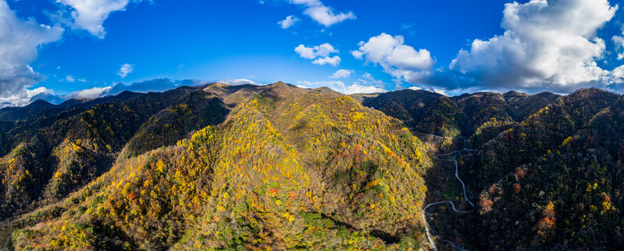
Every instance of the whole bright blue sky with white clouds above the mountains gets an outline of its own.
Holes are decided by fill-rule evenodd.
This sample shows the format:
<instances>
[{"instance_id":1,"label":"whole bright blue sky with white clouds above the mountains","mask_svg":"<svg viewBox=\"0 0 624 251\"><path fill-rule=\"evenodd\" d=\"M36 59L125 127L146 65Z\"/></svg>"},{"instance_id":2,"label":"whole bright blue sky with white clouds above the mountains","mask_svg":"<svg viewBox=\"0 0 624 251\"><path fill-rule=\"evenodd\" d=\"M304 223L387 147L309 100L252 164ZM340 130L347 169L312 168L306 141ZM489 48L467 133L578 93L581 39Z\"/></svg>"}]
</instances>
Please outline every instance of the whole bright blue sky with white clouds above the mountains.
<instances>
[{"instance_id":1,"label":"whole bright blue sky with white clouds above the mountains","mask_svg":"<svg viewBox=\"0 0 624 251\"><path fill-rule=\"evenodd\" d=\"M624 92L616 0L0 0L0 107L210 82Z\"/></svg>"}]
</instances>

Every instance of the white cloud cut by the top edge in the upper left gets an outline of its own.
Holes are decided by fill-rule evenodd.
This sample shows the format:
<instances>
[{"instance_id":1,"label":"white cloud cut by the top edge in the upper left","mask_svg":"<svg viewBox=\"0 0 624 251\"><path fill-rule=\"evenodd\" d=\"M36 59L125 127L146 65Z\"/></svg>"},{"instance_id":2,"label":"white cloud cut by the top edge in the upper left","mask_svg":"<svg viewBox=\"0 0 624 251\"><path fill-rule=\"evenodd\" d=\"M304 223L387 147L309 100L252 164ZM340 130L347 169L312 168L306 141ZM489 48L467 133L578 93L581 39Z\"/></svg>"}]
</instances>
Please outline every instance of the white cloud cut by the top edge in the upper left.
<instances>
[{"instance_id":1,"label":"white cloud cut by the top edge in the upper left","mask_svg":"<svg viewBox=\"0 0 624 251\"><path fill-rule=\"evenodd\" d=\"M108 15L114 11L126 10L129 2L129 0L57 0L57 3L71 6L73 9L71 25L74 29L85 29L98 38L106 36L102 25Z\"/></svg>"}]
</instances>

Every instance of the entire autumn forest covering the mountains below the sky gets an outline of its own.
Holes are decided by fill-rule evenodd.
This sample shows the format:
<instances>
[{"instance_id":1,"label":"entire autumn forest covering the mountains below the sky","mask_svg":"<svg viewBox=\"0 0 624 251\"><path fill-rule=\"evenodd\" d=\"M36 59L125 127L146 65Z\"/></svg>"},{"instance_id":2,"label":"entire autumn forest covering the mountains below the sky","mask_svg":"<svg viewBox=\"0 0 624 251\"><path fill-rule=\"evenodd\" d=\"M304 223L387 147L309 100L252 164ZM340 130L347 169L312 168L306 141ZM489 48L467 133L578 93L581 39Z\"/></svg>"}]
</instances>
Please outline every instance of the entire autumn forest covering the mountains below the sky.
<instances>
[{"instance_id":1,"label":"entire autumn forest covering the mountains below the sky","mask_svg":"<svg viewBox=\"0 0 624 251\"><path fill-rule=\"evenodd\" d=\"M6 250L618 250L624 98L208 84L0 109ZM476 207L458 214L435 201ZM427 221L427 222L426 222Z\"/></svg>"}]
</instances>

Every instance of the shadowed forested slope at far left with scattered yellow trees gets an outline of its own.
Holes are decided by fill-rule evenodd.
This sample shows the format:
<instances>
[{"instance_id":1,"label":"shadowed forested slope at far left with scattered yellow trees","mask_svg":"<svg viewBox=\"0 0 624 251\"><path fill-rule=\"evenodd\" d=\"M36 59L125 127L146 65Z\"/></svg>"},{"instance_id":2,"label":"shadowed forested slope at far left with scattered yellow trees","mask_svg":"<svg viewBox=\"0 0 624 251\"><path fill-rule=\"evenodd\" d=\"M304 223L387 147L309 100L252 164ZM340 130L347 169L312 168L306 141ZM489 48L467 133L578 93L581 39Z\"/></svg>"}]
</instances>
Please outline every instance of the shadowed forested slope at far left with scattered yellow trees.
<instances>
[{"instance_id":1,"label":"shadowed forested slope at far left with scattered yellow trees","mask_svg":"<svg viewBox=\"0 0 624 251\"><path fill-rule=\"evenodd\" d=\"M17 122L1 137L0 218L65 197L97 178L143 122L188 93L146 93Z\"/></svg>"}]
</instances>

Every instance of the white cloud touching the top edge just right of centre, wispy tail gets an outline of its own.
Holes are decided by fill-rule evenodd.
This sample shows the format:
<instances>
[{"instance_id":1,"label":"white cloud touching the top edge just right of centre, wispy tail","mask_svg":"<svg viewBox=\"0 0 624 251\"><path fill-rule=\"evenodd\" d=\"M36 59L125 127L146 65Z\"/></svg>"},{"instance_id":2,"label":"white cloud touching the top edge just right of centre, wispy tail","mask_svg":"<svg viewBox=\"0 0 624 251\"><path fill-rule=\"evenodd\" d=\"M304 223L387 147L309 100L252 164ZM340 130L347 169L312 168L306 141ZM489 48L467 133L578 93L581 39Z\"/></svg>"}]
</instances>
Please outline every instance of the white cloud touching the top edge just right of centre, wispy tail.
<instances>
[{"instance_id":1,"label":"white cloud touching the top edge just right of centre, wispy tail","mask_svg":"<svg viewBox=\"0 0 624 251\"><path fill-rule=\"evenodd\" d=\"M354 20L356 15L349 13L335 14L331 7L325 6L319 0L290 0L290 3L305 6L303 14L312 18L312 20L323 24L326 27L332 26L344 20Z\"/></svg>"}]
</instances>

